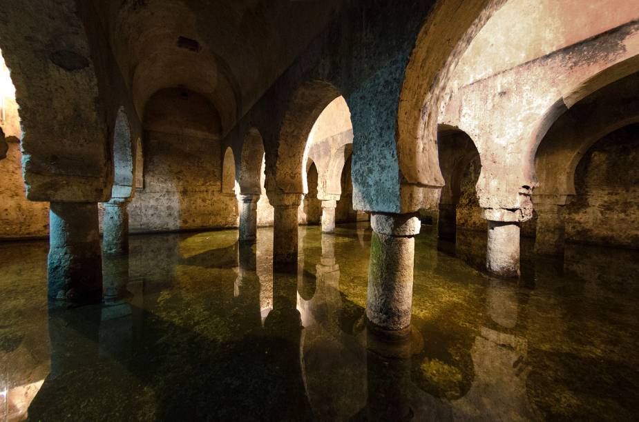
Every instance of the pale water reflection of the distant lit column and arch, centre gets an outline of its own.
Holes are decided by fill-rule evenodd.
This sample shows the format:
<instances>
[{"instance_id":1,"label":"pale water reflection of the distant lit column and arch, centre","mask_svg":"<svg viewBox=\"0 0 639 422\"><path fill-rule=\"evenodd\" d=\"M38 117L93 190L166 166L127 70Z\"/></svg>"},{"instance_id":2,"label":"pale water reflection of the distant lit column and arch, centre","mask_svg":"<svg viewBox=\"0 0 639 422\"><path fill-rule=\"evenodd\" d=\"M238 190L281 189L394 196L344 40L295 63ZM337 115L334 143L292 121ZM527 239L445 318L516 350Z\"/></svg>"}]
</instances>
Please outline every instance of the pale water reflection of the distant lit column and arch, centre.
<instances>
[{"instance_id":1,"label":"pale water reflection of the distant lit column and arch, centre","mask_svg":"<svg viewBox=\"0 0 639 422\"><path fill-rule=\"evenodd\" d=\"M303 376L316 421L349 420L366 402L365 335L354 333L351 318L355 314L363 320L364 310L345 312L347 305L349 310L357 305L340 294L336 239L334 234L321 234L319 263L306 263L301 285L301 290L309 284L314 287L310 297L301 293L299 309L304 323ZM309 271L313 267L316 274Z\"/></svg>"}]
</instances>

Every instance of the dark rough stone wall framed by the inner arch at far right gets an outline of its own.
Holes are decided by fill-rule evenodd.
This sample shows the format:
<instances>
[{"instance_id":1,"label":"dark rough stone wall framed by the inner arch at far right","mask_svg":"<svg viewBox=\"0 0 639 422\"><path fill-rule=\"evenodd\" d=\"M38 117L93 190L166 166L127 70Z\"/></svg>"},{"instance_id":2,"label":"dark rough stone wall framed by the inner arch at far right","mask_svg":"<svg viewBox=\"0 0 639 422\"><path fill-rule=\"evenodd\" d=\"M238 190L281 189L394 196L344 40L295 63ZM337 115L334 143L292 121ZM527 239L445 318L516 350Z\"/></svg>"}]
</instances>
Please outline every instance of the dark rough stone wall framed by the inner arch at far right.
<instances>
[{"instance_id":1,"label":"dark rough stone wall framed by the inner arch at far right","mask_svg":"<svg viewBox=\"0 0 639 422\"><path fill-rule=\"evenodd\" d=\"M639 125L593 145L575 173L566 240L639 248Z\"/></svg>"}]
</instances>

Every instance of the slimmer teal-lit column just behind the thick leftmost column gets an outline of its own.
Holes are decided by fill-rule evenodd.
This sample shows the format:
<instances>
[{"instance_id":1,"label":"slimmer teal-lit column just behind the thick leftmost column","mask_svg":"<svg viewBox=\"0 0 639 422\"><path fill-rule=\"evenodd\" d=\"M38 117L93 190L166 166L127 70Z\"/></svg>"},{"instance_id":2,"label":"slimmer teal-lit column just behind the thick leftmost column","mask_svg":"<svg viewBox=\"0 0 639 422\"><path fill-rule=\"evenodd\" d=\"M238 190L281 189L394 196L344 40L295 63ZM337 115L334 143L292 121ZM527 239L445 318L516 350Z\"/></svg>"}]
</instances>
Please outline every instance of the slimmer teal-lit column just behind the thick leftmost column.
<instances>
[{"instance_id":1,"label":"slimmer teal-lit column just behind the thick leftmost column","mask_svg":"<svg viewBox=\"0 0 639 422\"><path fill-rule=\"evenodd\" d=\"M104 203L102 249L106 254L128 252L128 211L130 198L111 198Z\"/></svg>"}]
</instances>

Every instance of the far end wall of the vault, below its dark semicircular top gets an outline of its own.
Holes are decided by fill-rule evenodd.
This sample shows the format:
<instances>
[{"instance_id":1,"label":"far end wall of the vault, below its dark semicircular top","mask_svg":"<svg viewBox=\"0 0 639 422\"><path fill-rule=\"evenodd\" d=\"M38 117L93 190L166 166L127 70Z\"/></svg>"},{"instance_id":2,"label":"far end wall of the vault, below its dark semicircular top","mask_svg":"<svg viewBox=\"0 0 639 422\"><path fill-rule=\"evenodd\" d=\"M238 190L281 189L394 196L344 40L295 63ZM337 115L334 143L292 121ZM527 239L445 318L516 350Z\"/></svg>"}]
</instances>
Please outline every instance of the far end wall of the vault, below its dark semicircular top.
<instances>
[{"instance_id":1,"label":"far end wall of the vault, below its dark semicircular top","mask_svg":"<svg viewBox=\"0 0 639 422\"><path fill-rule=\"evenodd\" d=\"M149 132L144 189L128 205L131 232L237 225L238 202L221 192L219 139Z\"/></svg>"}]
</instances>

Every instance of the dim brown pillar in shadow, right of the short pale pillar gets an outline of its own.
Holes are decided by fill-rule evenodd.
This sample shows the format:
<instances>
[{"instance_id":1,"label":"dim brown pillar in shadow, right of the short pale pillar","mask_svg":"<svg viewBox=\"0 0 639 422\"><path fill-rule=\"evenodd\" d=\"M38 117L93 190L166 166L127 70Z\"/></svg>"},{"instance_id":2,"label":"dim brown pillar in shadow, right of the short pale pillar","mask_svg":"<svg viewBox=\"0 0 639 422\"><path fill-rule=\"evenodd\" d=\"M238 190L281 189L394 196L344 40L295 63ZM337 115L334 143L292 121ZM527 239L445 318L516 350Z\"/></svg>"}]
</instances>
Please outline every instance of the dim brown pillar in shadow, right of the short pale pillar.
<instances>
[{"instance_id":1,"label":"dim brown pillar in shadow, right of the short pale pillar","mask_svg":"<svg viewBox=\"0 0 639 422\"><path fill-rule=\"evenodd\" d=\"M537 232L535 253L542 255L562 255L566 226L562 215L562 205L535 204L537 211Z\"/></svg>"}]
</instances>

